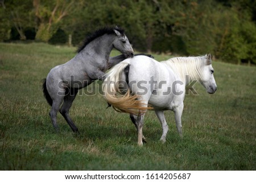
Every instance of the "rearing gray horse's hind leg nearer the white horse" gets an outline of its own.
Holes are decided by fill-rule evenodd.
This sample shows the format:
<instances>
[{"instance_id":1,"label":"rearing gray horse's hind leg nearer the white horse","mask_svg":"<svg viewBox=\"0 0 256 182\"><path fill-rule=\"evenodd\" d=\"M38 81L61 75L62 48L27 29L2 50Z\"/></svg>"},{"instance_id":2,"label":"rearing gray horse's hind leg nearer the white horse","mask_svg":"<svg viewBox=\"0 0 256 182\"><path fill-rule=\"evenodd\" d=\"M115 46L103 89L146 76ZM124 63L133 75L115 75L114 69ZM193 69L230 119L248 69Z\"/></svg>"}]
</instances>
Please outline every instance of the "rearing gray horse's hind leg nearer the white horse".
<instances>
[{"instance_id":1,"label":"rearing gray horse's hind leg nearer the white horse","mask_svg":"<svg viewBox=\"0 0 256 182\"><path fill-rule=\"evenodd\" d=\"M72 103L76 98L78 89L70 88L70 90L71 90L71 92L66 94L66 96L64 97L64 102L63 102L63 105L61 106L60 114L63 115L63 117L67 121L68 125L71 127L71 129L74 132L79 132L76 125L73 123L71 117L69 116L69 109L72 106Z\"/></svg>"}]
</instances>

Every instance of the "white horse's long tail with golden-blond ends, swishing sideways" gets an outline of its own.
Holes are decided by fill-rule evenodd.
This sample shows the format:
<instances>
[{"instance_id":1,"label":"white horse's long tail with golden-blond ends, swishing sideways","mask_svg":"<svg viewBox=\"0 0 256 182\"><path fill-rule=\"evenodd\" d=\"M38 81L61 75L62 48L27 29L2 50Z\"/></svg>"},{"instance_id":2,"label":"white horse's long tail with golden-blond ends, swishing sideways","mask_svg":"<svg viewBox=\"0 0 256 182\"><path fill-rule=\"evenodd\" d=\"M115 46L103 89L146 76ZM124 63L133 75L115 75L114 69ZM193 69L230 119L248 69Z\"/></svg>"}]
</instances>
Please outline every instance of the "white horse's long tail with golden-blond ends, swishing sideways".
<instances>
[{"instance_id":1,"label":"white horse's long tail with golden-blond ends, swishing sideways","mask_svg":"<svg viewBox=\"0 0 256 182\"><path fill-rule=\"evenodd\" d=\"M106 79L102 86L104 98L118 112L143 113L149 108L143 104L137 94L131 94L128 84L129 66L129 63L121 62L105 75Z\"/></svg>"}]
</instances>

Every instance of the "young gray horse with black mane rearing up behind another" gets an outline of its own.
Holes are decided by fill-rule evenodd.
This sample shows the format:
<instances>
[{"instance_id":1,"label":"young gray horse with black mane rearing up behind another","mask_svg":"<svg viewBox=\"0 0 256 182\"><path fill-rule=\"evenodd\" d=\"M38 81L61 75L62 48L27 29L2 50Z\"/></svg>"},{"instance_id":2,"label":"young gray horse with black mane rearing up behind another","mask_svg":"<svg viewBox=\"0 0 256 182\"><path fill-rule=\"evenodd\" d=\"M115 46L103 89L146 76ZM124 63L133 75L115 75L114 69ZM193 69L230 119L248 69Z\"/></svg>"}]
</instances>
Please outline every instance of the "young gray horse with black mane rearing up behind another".
<instances>
[{"instance_id":1,"label":"young gray horse with black mane rearing up behind another","mask_svg":"<svg viewBox=\"0 0 256 182\"><path fill-rule=\"evenodd\" d=\"M123 55L109 58L113 48ZM101 28L85 40L75 57L52 68L43 82L43 92L51 111L53 127L58 130L57 113L68 122L74 132L78 129L69 116L69 109L79 89L94 80L104 80L105 71L127 57L133 57L133 48L121 28ZM63 105L60 108L60 105Z\"/></svg>"}]
</instances>

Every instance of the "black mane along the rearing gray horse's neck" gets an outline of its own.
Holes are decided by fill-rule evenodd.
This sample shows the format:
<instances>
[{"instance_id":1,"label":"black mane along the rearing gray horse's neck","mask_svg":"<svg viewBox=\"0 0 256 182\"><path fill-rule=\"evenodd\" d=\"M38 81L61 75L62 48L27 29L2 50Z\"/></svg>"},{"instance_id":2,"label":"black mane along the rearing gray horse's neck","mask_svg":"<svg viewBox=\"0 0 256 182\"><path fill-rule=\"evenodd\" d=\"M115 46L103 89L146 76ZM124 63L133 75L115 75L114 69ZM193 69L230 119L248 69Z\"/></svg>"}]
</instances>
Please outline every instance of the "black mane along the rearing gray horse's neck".
<instances>
[{"instance_id":1,"label":"black mane along the rearing gray horse's neck","mask_svg":"<svg viewBox=\"0 0 256 182\"><path fill-rule=\"evenodd\" d=\"M92 42L94 39L104 35L104 34L114 34L114 30L117 30L120 32L121 35L123 35L125 33L125 31L120 28L120 27L104 27L104 28L100 28L97 31L95 31L94 33L90 34L85 40L84 43L82 44L82 46L80 46L77 49L77 53L79 53L80 51L82 51L82 49L84 49L90 42Z\"/></svg>"}]
</instances>

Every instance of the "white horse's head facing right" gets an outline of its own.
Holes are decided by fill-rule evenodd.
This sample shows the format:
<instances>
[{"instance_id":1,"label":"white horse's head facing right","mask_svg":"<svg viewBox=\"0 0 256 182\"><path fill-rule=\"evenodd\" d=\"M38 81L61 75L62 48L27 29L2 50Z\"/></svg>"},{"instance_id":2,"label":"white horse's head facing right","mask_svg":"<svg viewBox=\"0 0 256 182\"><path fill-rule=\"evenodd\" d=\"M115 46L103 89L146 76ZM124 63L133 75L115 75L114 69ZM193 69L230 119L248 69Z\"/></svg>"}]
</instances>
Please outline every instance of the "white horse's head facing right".
<instances>
[{"instance_id":1,"label":"white horse's head facing right","mask_svg":"<svg viewBox=\"0 0 256 182\"><path fill-rule=\"evenodd\" d=\"M212 67L212 55L205 55L203 73L200 82L207 89L207 92L213 94L217 90L217 85L213 77L214 69Z\"/></svg>"}]
</instances>

